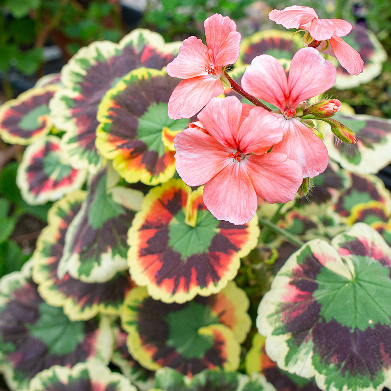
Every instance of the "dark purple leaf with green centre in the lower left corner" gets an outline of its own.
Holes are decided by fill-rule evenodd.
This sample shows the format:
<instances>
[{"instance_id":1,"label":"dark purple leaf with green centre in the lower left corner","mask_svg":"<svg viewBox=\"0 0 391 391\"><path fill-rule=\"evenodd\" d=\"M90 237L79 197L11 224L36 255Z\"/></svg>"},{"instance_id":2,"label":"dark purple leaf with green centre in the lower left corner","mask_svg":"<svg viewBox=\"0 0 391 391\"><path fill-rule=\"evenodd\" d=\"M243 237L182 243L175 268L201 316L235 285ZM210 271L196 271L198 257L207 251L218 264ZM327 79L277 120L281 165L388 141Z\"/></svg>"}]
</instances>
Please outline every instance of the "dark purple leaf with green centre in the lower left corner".
<instances>
[{"instance_id":1,"label":"dark purple leaf with green centre in the lower left corner","mask_svg":"<svg viewBox=\"0 0 391 391\"><path fill-rule=\"evenodd\" d=\"M43 301L31 279L32 262L0 280L0 370L12 390L54 364L72 366L111 355L109 320L71 322Z\"/></svg>"}]
</instances>

